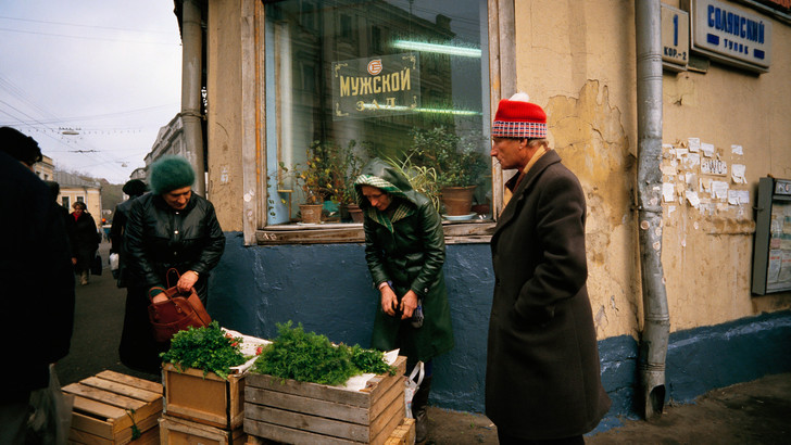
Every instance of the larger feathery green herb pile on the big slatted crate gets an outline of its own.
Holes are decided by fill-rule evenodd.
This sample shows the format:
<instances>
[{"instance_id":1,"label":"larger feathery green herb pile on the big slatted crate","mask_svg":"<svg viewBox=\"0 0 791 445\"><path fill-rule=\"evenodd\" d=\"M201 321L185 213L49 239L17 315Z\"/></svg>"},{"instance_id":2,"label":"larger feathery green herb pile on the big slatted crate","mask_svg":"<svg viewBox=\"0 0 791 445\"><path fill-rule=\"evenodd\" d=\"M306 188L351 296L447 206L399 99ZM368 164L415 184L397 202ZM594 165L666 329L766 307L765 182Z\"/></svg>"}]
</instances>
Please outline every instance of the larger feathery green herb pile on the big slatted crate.
<instances>
[{"instance_id":1,"label":"larger feathery green herb pile on the big slatted crate","mask_svg":"<svg viewBox=\"0 0 791 445\"><path fill-rule=\"evenodd\" d=\"M328 385L346 383L364 372L395 373L381 352L359 345L336 346L325 335L305 332L301 323L291 326L291 321L277 325L278 338L264 347L255 360L254 372Z\"/></svg>"}]
</instances>

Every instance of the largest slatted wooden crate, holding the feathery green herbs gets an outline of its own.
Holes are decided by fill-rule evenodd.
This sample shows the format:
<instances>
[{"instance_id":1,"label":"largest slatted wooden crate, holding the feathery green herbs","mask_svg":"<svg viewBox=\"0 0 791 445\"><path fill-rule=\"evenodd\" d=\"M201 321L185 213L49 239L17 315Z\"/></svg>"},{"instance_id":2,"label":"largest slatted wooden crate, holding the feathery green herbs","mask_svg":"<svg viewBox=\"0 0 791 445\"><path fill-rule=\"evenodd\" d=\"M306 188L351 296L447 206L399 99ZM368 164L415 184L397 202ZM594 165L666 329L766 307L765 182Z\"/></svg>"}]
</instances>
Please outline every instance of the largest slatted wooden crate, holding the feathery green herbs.
<instances>
[{"instance_id":1,"label":"largest slatted wooden crate, holding the feathery green herbs","mask_svg":"<svg viewBox=\"0 0 791 445\"><path fill-rule=\"evenodd\" d=\"M362 391L248 373L244 432L289 444L384 444L404 419L404 368Z\"/></svg>"}]
</instances>

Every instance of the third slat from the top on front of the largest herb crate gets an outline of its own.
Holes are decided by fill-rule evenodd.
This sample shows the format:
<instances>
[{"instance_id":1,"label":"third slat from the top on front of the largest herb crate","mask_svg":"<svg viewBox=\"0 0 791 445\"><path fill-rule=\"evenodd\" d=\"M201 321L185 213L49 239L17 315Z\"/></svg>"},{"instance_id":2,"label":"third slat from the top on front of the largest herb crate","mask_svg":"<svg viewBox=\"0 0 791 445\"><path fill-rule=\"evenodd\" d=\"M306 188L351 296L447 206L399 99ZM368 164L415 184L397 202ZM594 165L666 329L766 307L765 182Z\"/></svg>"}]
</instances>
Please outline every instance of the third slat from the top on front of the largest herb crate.
<instances>
[{"instance_id":1,"label":"third slat from the top on front of the largest herb crate","mask_svg":"<svg viewBox=\"0 0 791 445\"><path fill-rule=\"evenodd\" d=\"M353 442L368 442L369 428L356 423L310 416L285 409L269 408L262 405L249 405L244 411L244 419L258 420L300 431L322 434L324 436L339 437Z\"/></svg>"}]
</instances>

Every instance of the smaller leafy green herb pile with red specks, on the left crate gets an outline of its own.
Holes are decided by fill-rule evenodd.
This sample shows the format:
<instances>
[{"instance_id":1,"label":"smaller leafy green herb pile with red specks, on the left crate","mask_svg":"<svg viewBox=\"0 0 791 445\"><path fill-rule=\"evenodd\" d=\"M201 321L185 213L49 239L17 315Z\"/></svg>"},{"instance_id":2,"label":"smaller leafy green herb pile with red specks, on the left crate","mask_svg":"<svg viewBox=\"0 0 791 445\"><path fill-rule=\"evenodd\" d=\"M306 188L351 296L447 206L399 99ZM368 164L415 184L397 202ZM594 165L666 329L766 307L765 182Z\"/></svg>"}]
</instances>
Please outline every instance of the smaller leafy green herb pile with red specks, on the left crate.
<instances>
[{"instance_id":1,"label":"smaller leafy green herb pile with red specks, on the left crate","mask_svg":"<svg viewBox=\"0 0 791 445\"><path fill-rule=\"evenodd\" d=\"M160 356L179 371L196 368L202 369L204 376L214 372L228 379L230 367L246 361L241 353L241 338L226 334L216 321L212 321L206 327L189 327L177 332L171 340L171 349Z\"/></svg>"}]
</instances>

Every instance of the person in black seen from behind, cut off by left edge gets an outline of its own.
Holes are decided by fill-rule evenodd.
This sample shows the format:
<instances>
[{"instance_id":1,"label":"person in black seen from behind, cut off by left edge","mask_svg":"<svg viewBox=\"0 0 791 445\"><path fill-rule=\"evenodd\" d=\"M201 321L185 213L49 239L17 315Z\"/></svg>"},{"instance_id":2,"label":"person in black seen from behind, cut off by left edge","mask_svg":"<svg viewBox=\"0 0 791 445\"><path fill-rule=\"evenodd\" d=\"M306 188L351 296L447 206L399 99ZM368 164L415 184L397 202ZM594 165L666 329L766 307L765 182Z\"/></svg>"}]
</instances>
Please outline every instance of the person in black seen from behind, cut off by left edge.
<instances>
[{"instance_id":1,"label":"person in black seen from behind, cut off by left edge","mask_svg":"<svg viewBox=\"0 0 791 445\"><path fill-rule=\"evenodd\" d=\"M0 206L13 211L0 218L0 232L5 234L0 243L0 338L5 339L0 444L55 443L58 419L47 419L47 428L33 435L28 420L36 411L30 394L48 389L50 377L55 378L50 365L68 354L74 327L66 231L49 188L33 173L39 161L41 151L33 138L0 128ZM54 398L59 390L49 396Z\"/></svg>"}]
</instances>

